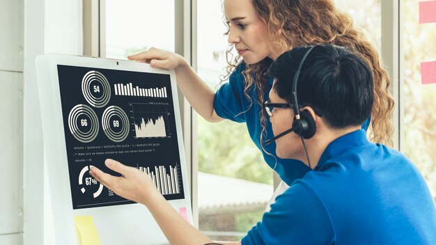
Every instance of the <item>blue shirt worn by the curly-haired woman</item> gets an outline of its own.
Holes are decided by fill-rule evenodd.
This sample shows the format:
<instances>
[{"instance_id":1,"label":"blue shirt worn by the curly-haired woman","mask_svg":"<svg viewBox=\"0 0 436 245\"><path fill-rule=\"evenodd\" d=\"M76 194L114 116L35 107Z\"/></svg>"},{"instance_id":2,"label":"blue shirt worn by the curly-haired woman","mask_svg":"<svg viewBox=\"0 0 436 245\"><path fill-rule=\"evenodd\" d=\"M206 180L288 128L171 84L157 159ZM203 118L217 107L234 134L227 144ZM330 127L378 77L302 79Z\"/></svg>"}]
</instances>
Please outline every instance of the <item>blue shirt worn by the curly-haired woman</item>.
<instances>
[{"instance_id":1,"label":"blue shirt worn by the curly-haired woman","mask_svg":"<svg viewBox=\"0 0 436 245\"><path fill-rule=\"evenodd\" d=\"M238 68L231 74L228 79L228 83L223 84L217 90L215 95L214 109L218 116L221 118L226 118L228 120L233 120L235 122L245 122L247 125L248 132L251 139L257 148L262 152L263 158L266 163L274 168L281 180L286 182L286 184L292 184L292 182L300 177L303 177L310 169L306 164L301 161L294 159L279 159L276 155L276 143L272 142L270 145L263 144L262 150L260 146L260 133L262 132L262 125L260 125L260 113L262 106L256 102L257 91L252 85L247 93L251 98L251 101L244 94L244 76L242 71L245 69L245 64L242 63ZM270 89L272 88L272 79L267 84L267 89L263 94L264 100L268 100ZM266 130L263 134L263 141L274 137L272 133L272 127L270 120L267 119ZM363 129L368 129L370 120L366 120ZM277 166L276 166L277 162Z\"/></svg>"}]
</instances>

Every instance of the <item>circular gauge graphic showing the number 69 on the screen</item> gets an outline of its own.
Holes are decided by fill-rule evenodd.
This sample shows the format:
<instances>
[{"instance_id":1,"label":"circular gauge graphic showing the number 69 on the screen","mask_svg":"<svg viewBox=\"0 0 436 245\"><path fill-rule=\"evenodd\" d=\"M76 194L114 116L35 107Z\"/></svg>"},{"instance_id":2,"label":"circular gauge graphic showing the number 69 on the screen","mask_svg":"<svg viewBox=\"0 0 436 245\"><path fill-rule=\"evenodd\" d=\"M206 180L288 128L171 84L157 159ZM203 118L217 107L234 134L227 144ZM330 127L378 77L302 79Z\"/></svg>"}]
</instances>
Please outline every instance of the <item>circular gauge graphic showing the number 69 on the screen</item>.
<instances>
[{"instance_id":1,"label":"circular gauge graphic showing the number 69 on the screen","mask_svg":"<svg viewBox=\"0 0 436 245\"><path fill-rule=\"evenodd\" d=\"M102 116L104 134L114 142L121 142L127 138L130 131L129 118L118 106L109 106Z\"/></svg>"}]
</instances>

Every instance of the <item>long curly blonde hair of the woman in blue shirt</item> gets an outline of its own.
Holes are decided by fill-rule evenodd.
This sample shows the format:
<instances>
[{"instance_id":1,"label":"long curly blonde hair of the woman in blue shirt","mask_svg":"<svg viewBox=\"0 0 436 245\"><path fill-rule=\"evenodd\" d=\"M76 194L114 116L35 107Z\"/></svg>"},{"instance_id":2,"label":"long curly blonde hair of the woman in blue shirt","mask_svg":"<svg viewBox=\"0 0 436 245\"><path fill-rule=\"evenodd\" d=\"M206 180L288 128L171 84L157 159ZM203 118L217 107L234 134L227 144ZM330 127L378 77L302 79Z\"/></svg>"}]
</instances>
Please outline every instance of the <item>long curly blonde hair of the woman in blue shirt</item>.
<instances>
[{"instance_id":1,"label":"long curly blonde hair of the woman in blue shirt","mask_svg":"<svg viewBox=\"0 0 436 245\"><path fill-rule=\"evenodd\" d=\"M380 65L375 47L361 31L353 26L352 18L339 11L333 0L251 0L260 19L267 25L272 52L281 54L301 45L331 43L348 47L368 63L374 78L374 104L371 112L370 139L373 142L392 145L394 126L391 115L394 99L389 95L389 77ZM227 26L230 30L230 26ZM228 33L228 32L227 32ZM278 48L277 48L278 47ZM226 76L242 63L240 56L231 57L233 45L226 51ZM272 61L265 58L255 64L246 64L242 73L245 79L245 94L254 84L258 90L257 103L263 101L263 92L267 87L264 76ZM265 114L260 116L262 125L266 125Z\"/></svg>"}]
</instances>

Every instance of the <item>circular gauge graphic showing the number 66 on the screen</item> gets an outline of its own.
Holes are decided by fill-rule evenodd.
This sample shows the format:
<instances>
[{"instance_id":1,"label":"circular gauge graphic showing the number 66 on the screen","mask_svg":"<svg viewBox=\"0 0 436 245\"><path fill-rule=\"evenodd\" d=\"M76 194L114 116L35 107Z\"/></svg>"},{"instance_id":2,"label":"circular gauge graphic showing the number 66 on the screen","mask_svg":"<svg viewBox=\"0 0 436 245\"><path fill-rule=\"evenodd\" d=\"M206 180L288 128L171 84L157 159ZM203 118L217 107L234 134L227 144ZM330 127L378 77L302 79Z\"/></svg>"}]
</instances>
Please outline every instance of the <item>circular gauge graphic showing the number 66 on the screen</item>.
<instances>
[{"instance_id":1,"label":"circular gauge graphic showing the number 66 on the screen","mask_svg":"<svg viewBox=\"0 0 436 245\"><path fill-rule=\"evenodd\" d=\"M91 142L98 134L97 114L86 104L77 104L68 115L68 127L78 141Z\"/></svg>"}]
</instances>

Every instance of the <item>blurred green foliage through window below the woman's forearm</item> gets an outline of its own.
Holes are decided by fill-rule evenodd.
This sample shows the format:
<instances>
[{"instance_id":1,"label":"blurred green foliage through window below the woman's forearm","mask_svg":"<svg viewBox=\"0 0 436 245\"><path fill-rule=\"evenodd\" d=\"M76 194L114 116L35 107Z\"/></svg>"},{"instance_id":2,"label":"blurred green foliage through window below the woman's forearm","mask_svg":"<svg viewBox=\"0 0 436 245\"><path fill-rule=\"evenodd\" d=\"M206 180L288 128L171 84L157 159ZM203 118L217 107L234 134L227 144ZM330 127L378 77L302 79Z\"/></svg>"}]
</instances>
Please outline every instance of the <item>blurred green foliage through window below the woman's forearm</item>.
<instances>
[{"instance_id":1,"label":"blurred green foliage through window below the woman's forearm","mask_svg":"<svg viewBox=\"0 0 436 245\"><path fill-rule=\"evenodd\" d=\"M198 171L272 184L272 170L245 124L198 117Z\"/></svg>"}]
</instances>

